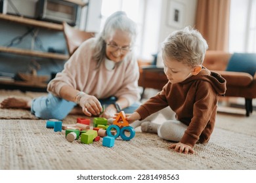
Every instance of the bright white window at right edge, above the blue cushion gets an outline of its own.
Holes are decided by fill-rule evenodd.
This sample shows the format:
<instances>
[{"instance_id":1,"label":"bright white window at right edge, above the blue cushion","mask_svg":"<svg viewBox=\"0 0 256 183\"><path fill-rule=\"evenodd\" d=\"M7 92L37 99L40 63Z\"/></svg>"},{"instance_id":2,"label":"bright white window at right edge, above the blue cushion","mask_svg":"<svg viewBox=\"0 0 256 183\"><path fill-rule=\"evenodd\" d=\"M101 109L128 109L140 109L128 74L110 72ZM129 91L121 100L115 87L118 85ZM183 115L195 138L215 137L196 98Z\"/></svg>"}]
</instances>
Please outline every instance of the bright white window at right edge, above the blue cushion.
<instances>
[{"instance_id":1,"label":"bright white window at right edge, above the blue cushion","mask_svg":"<svg viewBox=\"0 0 256 183\"><path fill-rule=\"evenodd\" d=\"M256 0L232 0L230 6L230 52L256 53Z\"/></svg>"}]
</instances>

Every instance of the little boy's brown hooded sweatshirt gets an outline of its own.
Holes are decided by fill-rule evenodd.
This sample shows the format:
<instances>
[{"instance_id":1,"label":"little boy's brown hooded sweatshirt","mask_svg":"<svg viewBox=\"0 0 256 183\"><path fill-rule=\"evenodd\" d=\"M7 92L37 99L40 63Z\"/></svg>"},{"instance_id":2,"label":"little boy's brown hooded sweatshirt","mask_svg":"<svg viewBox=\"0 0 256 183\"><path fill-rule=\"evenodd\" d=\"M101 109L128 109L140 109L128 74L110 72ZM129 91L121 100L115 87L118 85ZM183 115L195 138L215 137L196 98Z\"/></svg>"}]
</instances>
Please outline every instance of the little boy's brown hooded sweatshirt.
<instances>
[{"instance_id":1,"label":"little boy's brown hooded sweatshirt","mask_svg":"<svg viewBox=\"0 0 256 183\"><path fill-rule=\"evenodd\" d=\"M136 111L144 120L150 114L169 105L176 118L188 125L181 142L193 147L196 142L208 142L215 125L219 95L226 92L226 80L203 67L196 76L183 82L167 82L161 92L141 105Z\"/></svg>"}]
</instances>

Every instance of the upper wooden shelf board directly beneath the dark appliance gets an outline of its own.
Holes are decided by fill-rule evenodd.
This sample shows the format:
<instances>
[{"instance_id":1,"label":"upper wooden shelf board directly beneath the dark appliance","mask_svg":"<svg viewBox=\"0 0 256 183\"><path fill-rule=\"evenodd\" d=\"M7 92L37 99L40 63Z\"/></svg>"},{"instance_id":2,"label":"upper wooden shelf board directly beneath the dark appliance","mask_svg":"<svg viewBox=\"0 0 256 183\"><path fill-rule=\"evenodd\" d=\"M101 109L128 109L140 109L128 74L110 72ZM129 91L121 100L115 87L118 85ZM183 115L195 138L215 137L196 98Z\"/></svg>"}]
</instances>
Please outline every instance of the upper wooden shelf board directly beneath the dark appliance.
<instances>
[{"instance_id":1,"label":"upper wooden shelf board directly beneath the dark appliance","mask_svg":"<svg viewBox=\"0 0 256 183\"><path fill-rule=\"evenodd\" d=\"M10 14L2 14L0 13L0 19L1 20L7 20L11 22L16 22L19 24L24 24L24 25L32 25L35 27L41 27L45 29L52 29L54 31L63 31L63 25L62 24L54 24L51 22L43 22L39 20L33 20L30 18L24 18L20 16L14 16Z\"/></svg>"}]
</instances>

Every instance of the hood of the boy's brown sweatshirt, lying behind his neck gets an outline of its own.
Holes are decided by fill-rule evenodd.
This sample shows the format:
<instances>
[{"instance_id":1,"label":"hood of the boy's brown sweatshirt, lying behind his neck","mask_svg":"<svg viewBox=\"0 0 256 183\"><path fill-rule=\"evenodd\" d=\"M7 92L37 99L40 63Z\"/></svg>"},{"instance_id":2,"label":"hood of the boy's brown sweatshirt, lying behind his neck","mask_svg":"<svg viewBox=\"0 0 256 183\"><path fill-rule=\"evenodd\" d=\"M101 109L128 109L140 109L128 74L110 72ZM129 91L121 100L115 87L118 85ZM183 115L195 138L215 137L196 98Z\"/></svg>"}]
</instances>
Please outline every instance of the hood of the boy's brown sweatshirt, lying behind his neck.
<instances>
[{"instance_id":1,"label":"hood of the boy's brown sweatshirt, lying behind his neck","mask_svg":"<svg viewBox=\"0 0 256 183\"><path fill-rule=\"evenodd\" d=\"M211 83L211 86L213 86L213 88L219 95L224 95L224 93L226 92L226 80L218 73L209 71L205 67L202 67L202 71L200 71L198 75L190 76L189 78L181 82L181 84L186 84L194 80L205 80Z\"/></svg>"}]
</instances>

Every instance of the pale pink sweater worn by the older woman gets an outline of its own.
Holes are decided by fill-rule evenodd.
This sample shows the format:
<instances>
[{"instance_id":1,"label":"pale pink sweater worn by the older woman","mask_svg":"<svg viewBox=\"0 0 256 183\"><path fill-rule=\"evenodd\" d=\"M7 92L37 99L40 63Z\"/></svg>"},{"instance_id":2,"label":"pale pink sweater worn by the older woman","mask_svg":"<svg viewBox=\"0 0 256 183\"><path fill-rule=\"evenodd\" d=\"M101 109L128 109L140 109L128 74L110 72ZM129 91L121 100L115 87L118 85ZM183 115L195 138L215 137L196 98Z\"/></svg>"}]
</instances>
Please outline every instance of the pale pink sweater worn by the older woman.
<instances>
[{"instance_id":1,"label":"pale pink sweater worn by the older woman","mask_svg":"<svg viewBox=\"0 0 256 183\"><path fill-rule=\"evenodd\" d=\"M60 88L69 85L98 99L125 97L132 105L140 97L137 60L129 53L111 71L106 69L104 63L96 69L96 61L92 59L94 43L95 38L92 38L79 46L65 63L64 70L49 82L47 91L59 97Z\"/></svg>"}]
</instances>

